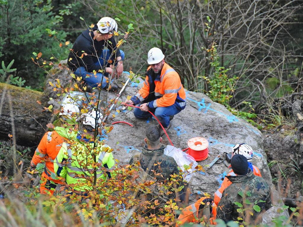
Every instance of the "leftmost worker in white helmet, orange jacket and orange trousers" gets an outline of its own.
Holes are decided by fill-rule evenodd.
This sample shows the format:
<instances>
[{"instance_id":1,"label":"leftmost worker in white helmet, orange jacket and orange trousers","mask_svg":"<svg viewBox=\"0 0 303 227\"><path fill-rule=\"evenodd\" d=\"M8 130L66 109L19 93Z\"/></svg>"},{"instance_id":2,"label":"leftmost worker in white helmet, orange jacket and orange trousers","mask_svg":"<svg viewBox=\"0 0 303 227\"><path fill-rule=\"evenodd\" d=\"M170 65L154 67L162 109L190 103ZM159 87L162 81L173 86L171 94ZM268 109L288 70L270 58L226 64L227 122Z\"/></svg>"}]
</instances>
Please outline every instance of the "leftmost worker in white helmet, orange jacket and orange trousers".
<instances>
[{"instance_id":1,"label":"leftmost worker in white helmet, orange jacket and orange trousers","mask_svg":"<svg viewBox=\"0 0 303 227\"><path fill-rule=\"evenodd\" d=\"M67 118L77 121L79 108L74 104L65 104L63 111L59 113L60 119L64 122ZM45 162L45 168L41 176L40 193L52 195L58 184L62 182L56 177L54 172L54 160L62 146L63 142L71 139L75 140L77 132L68 127L55 127L54 131L48 131L42 137L35 154L31 161L31 167L34 169L38 163Z\"/></svg>"}]
</instances>

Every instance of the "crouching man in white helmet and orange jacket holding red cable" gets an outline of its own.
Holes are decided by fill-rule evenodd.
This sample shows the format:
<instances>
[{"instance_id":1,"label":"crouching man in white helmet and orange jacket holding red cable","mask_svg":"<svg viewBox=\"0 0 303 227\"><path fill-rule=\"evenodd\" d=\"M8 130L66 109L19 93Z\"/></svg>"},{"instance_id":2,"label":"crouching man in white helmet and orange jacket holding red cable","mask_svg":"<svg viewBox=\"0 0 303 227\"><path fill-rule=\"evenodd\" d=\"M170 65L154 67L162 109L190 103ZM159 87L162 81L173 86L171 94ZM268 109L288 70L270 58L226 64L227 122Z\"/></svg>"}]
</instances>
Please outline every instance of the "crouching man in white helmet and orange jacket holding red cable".
<instances>
[{"instance_id":1,"label":"crouching man in white helmet and orange jacket holding red cable","mask_svg":"<svg viewBox=\"0 0 303 227\"><path fill-rule=\"evenodd\" d=\"M164 61L164 54L159 48L148 51L147 62L150 66L146 72L143 87L125 103L137 105L136 118L151 117L155 113L165 129L170 128L173 116L185 108L186 95L179 74Z\"/></svg>"}]
</instances>

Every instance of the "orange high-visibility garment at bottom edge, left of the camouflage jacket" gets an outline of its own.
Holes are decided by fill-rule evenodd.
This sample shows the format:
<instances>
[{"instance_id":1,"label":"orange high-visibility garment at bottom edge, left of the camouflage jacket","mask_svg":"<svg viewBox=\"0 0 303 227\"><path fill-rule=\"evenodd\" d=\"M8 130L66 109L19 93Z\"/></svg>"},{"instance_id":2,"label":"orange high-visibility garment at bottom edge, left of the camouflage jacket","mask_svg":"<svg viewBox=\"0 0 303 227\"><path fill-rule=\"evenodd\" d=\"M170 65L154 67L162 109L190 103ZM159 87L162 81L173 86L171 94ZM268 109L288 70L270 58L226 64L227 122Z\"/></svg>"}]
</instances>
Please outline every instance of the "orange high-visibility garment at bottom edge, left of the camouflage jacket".
<instances>
[{"instance_id":1,"label":"orange high-visibility garment at bottom edge, left of the camouflage jacket","mask_svg":"<svg viewBox=\"0 0 303 227\"><path fill-rule=\"evenodd\" d=\"M210 198L202 197L197 202L184 208L178 217L178 224L176 226L178 227L180 225L183 225L184 223L189 223L189 222L197 223L199 206L201 205L201 202L204 203L203 200L205 200L205 199L210 199ZM211 224L214 224L214 220L216 219L216 216L217 216L217 206L215 203L212 203L212 214L213 214L213 217L210 218L210 222L211 222Z\"/></svg>"}]
</instances>

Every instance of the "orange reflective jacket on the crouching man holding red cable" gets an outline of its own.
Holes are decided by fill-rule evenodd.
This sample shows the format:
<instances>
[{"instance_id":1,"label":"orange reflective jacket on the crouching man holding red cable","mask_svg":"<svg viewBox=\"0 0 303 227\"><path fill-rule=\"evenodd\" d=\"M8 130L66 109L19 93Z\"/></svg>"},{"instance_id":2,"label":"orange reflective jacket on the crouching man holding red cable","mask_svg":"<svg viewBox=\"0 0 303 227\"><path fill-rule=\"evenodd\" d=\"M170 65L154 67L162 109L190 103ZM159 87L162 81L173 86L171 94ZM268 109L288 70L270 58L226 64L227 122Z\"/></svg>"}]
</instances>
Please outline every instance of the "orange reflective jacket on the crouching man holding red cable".
<instances>
[{"instance_id":1,"label":"orange reflective jacket on the crouching man holding red cable","mask_svg":"<svg viewBox=\"0 0 303 227\"><path fill-rule=\"evenodd\" d=\"M143 87L132 97L135 105L145 100L150 93L151 66L147 69L147 75ZM160 77L155 78L155 100L148 103L149 108L168 107L176 105L182 110L186 105L186 95L179 74L168 64L164 63ZM153 95L153 94L152 94Z\"/></svg>"}]
</instances>

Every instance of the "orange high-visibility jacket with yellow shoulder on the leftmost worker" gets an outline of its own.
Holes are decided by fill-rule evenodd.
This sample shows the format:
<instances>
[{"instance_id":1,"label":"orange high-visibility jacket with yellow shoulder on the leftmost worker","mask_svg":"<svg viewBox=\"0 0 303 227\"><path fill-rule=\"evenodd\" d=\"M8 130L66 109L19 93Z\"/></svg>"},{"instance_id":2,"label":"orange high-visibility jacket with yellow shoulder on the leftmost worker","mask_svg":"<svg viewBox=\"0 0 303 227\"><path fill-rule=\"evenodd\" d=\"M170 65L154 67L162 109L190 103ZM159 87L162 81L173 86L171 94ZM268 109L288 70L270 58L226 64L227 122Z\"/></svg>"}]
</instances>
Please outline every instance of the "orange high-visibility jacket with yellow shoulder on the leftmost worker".
<instances>
[{"instance_id":1,"label":"orange high-visibility jacket with yellow shoulder on the leftmost worker","mask_svg":"<svg viewBox=\"0 0 303 227\"><path fill-rule=\"evenodd\" d=\"M38 163L45 161L45 172L50 176L54 173L54 160L62 143L76 136L77 133L69 132L68 129L63 127L55 127L54 131L46 132L35 150L31 166L35 167Z\"/></svg>"}]
</instances>

